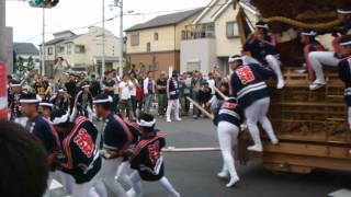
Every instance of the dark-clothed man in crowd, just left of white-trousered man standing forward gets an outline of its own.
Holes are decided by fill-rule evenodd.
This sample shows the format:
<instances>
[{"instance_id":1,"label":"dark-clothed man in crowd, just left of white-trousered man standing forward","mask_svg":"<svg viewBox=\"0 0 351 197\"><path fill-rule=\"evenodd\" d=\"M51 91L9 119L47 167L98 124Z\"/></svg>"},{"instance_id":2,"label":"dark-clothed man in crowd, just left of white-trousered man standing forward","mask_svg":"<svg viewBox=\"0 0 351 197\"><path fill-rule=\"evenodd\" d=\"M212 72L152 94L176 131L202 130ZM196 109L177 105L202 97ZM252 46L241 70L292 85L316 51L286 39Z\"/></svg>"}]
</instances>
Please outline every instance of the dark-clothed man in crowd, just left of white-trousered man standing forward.
<instances>
[{"instance_id":1,"label":"dark-clothed man in crowd, just left of white-trousered man standing forward","mask_svg":"<svg viewBox=\"0 0 351 197\"><path fill-rule=\"evenodd\" d=\"M156 82L157 85L157 99L158 99L158 115L165 116L167 108L167 76L166 72L161 72L160 78Z\"/></svg>"}]
</instances>

